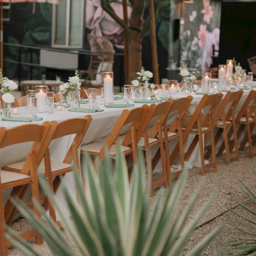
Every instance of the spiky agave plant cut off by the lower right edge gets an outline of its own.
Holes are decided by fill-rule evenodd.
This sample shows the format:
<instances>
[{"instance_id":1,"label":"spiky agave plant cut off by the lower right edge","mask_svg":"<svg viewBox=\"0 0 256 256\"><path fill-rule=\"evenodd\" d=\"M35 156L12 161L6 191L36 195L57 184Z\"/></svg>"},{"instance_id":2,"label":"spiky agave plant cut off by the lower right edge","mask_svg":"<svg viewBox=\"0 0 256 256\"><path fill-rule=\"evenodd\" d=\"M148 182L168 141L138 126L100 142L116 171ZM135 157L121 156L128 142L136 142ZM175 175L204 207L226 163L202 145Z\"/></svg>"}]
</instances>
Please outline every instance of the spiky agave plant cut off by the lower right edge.
<instances>
[{"instance_id":1,"label":"spiky agave plant cut off by the lower right edge","mask_svg":"<svg viewBox=\"0 0 256 256\"><path fill-rule=\"evenodd\" d=\"M255 168L253 169L254 174L256 175ZM249 199L254 203L256 206L256 191L250 189L244 182L242 182L243 186L241 187L244 193L249 197ZM233 252L233 255L256 255L256 211L242 203L240 205L248 211L248 215L241 214L241 212L237 210L232 210L235 214L243 218L244 220L251 223L254 231L246 231L241 229L245 234L249 235L249 238L238 238L240 241L237 243L230 244L230 250ZM254 207L255 208L255 207Z\"/></svg>"}]
</instances>

